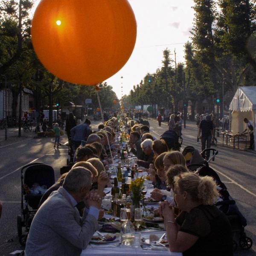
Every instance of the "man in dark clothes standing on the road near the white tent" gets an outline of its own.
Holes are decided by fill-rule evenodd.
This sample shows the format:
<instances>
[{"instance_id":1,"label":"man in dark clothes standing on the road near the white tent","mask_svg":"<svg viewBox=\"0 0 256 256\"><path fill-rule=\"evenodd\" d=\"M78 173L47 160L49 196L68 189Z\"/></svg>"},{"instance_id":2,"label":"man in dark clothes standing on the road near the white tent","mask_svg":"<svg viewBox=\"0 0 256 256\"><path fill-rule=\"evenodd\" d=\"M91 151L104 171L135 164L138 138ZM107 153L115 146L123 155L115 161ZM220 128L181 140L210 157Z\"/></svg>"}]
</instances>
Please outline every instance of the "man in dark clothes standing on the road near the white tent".
<instances>
[{"instance_id":1,"label":"man in dark clothes standing on the road near the white tent","mask_svg":"<svg viewBox=\"0 0 256 256\"><path fill-rule=\"evenodd\" d=\"M199 134L199 139L201 139L201 143L202 143L202 151L205 149L206 144L207 144L207 148L210 148L211 141L214 140L213 123L210 115L207 115L205 119L203 119L200 122L198 134ZM206 157L205 157L206 160L209 159L209 156L210 156L210 151L207 151Z\"/></svg>"}]
</instances>

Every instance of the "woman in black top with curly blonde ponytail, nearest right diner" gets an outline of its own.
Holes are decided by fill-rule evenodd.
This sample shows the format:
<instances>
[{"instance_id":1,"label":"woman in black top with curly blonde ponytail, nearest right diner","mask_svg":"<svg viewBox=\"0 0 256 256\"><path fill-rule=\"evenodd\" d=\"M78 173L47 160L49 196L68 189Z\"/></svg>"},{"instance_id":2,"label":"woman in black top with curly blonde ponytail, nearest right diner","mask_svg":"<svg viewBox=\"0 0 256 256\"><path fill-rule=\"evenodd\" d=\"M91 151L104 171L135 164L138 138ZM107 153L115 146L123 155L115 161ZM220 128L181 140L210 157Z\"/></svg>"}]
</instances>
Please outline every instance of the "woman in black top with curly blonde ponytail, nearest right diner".
<instances>
[{"instance_id":1,"label":"woman in black top with curly blonde ponytail, nearest right diner","mask_svg":"<svg viewBox=\"0 0 256 256\"><path fill-rule=\"evenodd\" d=\"M182 211L176 220L167 201L160 205L170 250L183 256L232 256L231 226L213 205L218 191L212 177L181 173L175 177L174 196Z\"/></svg>"}]
</instances>

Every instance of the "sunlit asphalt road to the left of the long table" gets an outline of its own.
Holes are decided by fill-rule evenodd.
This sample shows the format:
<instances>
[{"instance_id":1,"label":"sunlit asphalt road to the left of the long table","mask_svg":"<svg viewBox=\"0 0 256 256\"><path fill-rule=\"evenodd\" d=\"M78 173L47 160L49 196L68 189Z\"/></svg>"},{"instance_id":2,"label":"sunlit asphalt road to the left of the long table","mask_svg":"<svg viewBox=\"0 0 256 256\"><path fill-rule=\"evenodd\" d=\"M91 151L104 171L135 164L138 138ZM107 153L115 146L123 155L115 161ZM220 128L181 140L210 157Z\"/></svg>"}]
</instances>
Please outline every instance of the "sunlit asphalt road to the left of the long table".
<instances>
[{"instance_id":1,"label":"sunlit asphalt road to the left of the long table","mask_svg":"<svg viewBox=\"0 0 256 256\"><path fill-rule=\"evenodd\" d=\"M92 128L96 128L92 125ZM21 186L20 167L32 162L49 164L59 177L60 168L66 165L67 147L53 148L54 138L34 139L32 133L18 138L17 129L9 129L9 139L3 141L0 130L0 200L3 202L0 218L0 256L7 256L15 250L23 250L17 237L17 215L20 214ZM23 135L23 134L22 134ZM67 141L61 137L61 143Z\"/></svg>"}]
</instances>

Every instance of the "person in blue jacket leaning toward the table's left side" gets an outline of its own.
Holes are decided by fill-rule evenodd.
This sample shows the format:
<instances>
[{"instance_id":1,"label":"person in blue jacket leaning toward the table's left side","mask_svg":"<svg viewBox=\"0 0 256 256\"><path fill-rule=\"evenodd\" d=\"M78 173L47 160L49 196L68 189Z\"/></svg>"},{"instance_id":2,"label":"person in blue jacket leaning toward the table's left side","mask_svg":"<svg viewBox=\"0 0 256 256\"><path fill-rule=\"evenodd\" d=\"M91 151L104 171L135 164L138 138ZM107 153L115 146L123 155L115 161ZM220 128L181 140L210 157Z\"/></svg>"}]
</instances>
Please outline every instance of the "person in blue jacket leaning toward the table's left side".
<instances>
[{"instance_id":1,"label":"person in blue jacket leaning toward the table's left side","mask_svg":"<svg viewBox=\"0 0 256 256\"><path fill-rule=\"evenodd\" d=\"M84 123L76 125L70 130L70 135L75 143L75 149L81 145L81 141L87 141L88 136L91 134L90 120L85 119Z\"/></svg>"}]
</instances>

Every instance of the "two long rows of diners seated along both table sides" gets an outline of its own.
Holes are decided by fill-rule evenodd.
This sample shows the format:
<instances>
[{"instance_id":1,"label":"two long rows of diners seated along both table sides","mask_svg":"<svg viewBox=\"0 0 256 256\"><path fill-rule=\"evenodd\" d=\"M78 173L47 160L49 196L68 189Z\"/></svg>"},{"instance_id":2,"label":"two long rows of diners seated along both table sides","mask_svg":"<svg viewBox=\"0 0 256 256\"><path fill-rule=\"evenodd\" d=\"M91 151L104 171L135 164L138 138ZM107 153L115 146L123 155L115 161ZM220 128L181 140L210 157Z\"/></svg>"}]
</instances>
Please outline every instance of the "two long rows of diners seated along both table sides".
<instances>
[{"instance_id":1,"label":"two long rows of diners seated along both table sides","mask_svg":"<svg viewBox=\"0 0 256 256\"><path fill-rule=\"evenodd\" d=\"M157 211L164 219L170 251L184 256L233 255L230 223L214 205L219 194L213 178L190 172L183 154L157 140L149 127L131 119L129 112L115 113L98 126L98 131L80 141L76 136L76 132L81 134L79 125L71 128L70 134L77 140L76 163L41 199L29 231L26 255L79 256L87 247L104 214L100 209L103 190L111 186L105 169L112 163L110 152L116 156L119 148L115 132L120 120L130 135L131 153L154 185L151 198L160 201ZM89 120L86 125L90 125Z\"/></svg>"}]
</instances>

